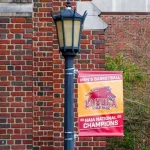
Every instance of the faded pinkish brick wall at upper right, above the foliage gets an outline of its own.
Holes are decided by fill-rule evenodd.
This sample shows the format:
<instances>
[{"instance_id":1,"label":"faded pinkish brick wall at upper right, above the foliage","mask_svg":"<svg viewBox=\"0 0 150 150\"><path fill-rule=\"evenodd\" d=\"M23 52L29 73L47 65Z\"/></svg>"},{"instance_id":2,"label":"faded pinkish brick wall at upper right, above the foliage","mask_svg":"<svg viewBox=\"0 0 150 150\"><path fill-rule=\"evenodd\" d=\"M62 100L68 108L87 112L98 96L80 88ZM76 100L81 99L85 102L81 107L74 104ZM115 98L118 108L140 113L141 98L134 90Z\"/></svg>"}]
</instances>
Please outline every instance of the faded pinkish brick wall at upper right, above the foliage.
<instances>
[{"instance_id":1,"label":"faded pinkish brick wall at upper right, above the foliage","mask_svg":"<svg viewBox=\"0 0 150 150\"><path fill-rule=\"evenodd\" d=\"M150 35L150 15L114 13L104 14L102 18L109 24L105 32L107 54L115 55L124 52L130 57L136 57L136 53L146 54L145 49Z\"/></svg>"}]
</instances>

